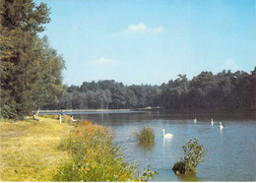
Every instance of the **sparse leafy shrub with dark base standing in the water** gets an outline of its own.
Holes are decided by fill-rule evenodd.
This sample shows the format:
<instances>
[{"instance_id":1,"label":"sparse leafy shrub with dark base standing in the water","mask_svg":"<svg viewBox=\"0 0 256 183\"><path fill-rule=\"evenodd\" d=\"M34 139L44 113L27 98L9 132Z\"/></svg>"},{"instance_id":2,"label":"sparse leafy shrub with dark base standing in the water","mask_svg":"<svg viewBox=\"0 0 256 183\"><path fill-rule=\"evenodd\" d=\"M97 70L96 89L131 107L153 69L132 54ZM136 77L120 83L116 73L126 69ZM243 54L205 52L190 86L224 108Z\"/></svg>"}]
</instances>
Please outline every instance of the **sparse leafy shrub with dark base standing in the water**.
<instances>
[{"instance_id":1,"label":"sparse leafy shrub with dark base standing in the water","mask_svg":"<svg viewBox=\"0 0 256 183\"><path fill-rule=\"evenodd\" d=\"M182 147L184 156L181 157L180 161L175 163L172 168L174 173L177 171L183 174L197 172L197 165L204 161L203 156L205 154L205 150L203 145L198 144L197 139L194 139L194 141L189 140L186 145L187 146Z\"/></svg>"}]
</instances>

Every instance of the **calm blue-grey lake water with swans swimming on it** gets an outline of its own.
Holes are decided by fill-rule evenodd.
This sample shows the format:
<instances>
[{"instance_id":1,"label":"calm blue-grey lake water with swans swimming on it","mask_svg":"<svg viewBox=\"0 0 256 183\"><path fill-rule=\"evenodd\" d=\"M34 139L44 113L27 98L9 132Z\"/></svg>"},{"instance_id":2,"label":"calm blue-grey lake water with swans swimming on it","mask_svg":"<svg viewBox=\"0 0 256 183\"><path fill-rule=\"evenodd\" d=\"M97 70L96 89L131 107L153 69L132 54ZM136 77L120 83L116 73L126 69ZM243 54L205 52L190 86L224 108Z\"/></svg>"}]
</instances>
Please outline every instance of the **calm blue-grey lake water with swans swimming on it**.
<instances>
[{"instance_id":1,"label":"calm blue-grey lake water with swans swimming on it","mask_svg":"<svg viewBox=\"0 0 256 183\"><path fill-rule=\"evenodd\" d=\"M121 146L130 163L139 169L151 165L159 172L153 181L255 181L256 118L255 113L177 114L170 111L145 112L77 112L76 118L91 119L116 132L114 143ZM194 123L194 118L197 123ZM214 119L214 126L211 119ZM224 128L220 130L219 122ZM155 131L155 145L141 146L133 137L144 126ZM162 129L173 137L162 138ZM197 138L205 149L204 162L191 177L176 176L171 170L184 146Z\"/></svg>"}]
</instances>

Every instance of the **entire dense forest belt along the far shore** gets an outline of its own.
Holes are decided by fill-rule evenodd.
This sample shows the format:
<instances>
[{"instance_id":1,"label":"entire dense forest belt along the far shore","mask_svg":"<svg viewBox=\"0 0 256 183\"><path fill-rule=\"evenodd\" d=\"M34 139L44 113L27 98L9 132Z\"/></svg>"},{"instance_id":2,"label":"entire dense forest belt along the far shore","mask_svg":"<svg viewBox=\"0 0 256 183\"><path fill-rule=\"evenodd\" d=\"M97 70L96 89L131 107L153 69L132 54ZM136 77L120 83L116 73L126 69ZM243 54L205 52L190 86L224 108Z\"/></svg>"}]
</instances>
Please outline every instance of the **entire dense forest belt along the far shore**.
<instances>
[{"instance_id":1,"label":"entire dense forest belt along the far shore","mask_svg":"<svg viewBox=\"0 0 256 183\"><path fill-rule=\"evenodd\" d=\"M223 71L214 75L202 72L189 81L178 75L161 86L124 86L113 80L84 82L80 87L67 87L57 105L48 109L143 108L168 109L240 109L255 108L256 67L246 72Z\"/></svg>"}]
</instances>

